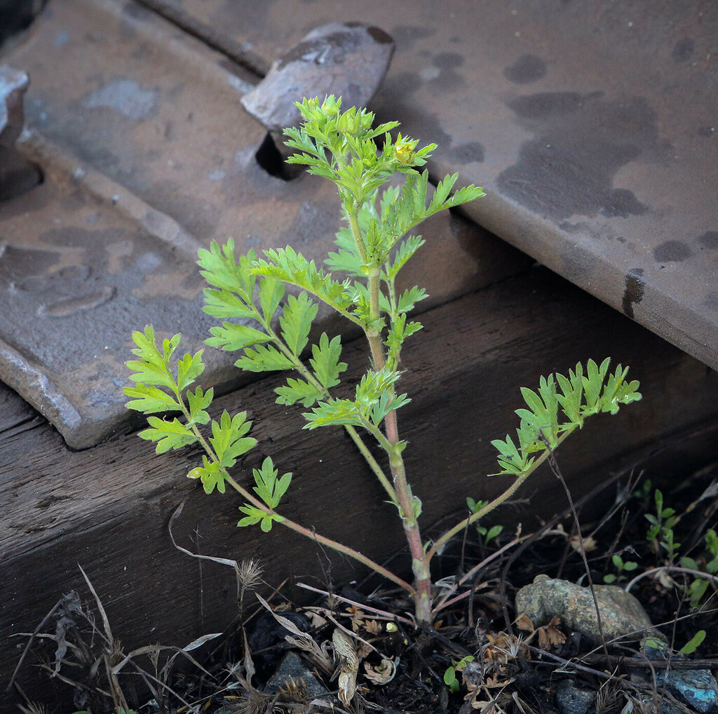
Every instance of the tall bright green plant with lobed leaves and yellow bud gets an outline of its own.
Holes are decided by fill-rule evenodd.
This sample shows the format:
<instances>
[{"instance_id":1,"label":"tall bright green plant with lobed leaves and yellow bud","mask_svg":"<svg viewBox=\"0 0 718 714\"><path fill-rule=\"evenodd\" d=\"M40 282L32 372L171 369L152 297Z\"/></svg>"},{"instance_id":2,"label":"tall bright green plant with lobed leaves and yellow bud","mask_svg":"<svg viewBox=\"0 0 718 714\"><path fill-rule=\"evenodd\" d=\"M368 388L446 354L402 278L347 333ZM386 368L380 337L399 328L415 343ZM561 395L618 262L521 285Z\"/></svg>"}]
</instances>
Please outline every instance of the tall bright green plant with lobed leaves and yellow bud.
<instances>
[{"instance_id":1,"label":"tall bright green plant with lobed leaves and yellow bud","mask_svg":"<svg viewBox=\"0 0 718 714\"><path fill-rule=\"evenodd\" d=\"M234 417L225 412L218 421L210 419L212 390L189 389L204 369L202 351L187 354L176 368L172 366L180 335L164 339L158 347L150 326L144 333L134 333L137 359L127 364L135 384L125 390L131 397L127 406L145 414L180 412L182 420L150 416L149 427L139 436L157 442L158 453L198 443L205 456L188 476L199 478L208 493L215 488L224 492L227 483L236 489L246 501L240 526L258 523L269 531L279 523L355 558L404 588L414 598L416 620L430 623L432 557L449 539L510 498L566 437L582 428L586 417L598 412L615 414L620 404L640 399L638 382L626 381L628 368L618 366L610 374L609 360L605 360L600 365L589 361L585 369L578 364L569 376L541 377L538 393L522 389L527 408L517 411L521 423L516 442L510 436L493 442L499 452L498 473L511 476L513 482L434 542L424 541L419 528L421 501L406 478L406 442L399 435L396 412L409 402L398 391L401 349L406 339L421 330L421 323L407 315L426 292L421 287L398 292L396 277L424 242L421 236L407 235L409 231L439 210L479 198L483 192L468 186L450 195L457 182L453 175L440 181L432 193L428 172L420 173L417 167L426 163L435 144L419 148L416 140L401 134L393 139L389 131L397 122L373 129L372 113L356 108L342 112L340 100L334 97L323 102L305 99L298 106L304 124L286 131L286 143L297 151L288 160L307 165L310 173L337 185L345 227L337 235L337 252L326 262L342 278L317 268L290 247L264 251L263 257L250 251L237 258L233 241L222 247L213 243L209 250L200 251L199 264L210 285L205 290L205 311L223 322L211 330L207 344L241 351L236 365L242 369L296 372L297 376L276 389L277 402L299 403L308 409L304 412L306 429L339 425L347 430L389 503L398 510L411 552L413 583L280 515L276 509L292 476L279 478L271 458L254 471L253 492L230 476L238 458L256 443L247 436L250 422L245 412ZM381 136L380 149L376 139ZM380 191L396 173L404 175L404 185ZM285 298L284 284L299 289L298 295ZM311 346L308 363L302 360L317 315L314 299L360 328L368 341L370 365L353 394L344 390L342 396L335 396L347 368L340 361L338 336L322 334ZM205 437L208 426L211 436ZM373 458L359 430L383 449L389 474Z\"/></svg>"}]
</instances>

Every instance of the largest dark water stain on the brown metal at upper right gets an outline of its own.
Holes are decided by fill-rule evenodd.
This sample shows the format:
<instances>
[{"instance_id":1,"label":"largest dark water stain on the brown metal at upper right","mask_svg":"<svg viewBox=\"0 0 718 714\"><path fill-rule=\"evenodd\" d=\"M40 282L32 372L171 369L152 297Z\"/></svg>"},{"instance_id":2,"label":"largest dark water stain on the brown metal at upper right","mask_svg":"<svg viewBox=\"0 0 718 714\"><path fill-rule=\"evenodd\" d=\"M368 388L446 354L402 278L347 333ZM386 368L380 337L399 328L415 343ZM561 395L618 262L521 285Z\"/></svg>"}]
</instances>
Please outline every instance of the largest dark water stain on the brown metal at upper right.
<instances>
[{"instance_id":1,"label":"largest dark water stain on the brown metal at upper right","mask_svg":"<svg viewBox=\"0 0 718 714\"><path fill-rule=\"evenodd\" d=\"M508 102L521 126L533 131L518 163L497 178L503 195L556 221L572 215L626 218L647 207L616 172L639 157L663 158L656 113L641 97L605 98L596 92L538 93Z\"/></svg>"}]
</instances>

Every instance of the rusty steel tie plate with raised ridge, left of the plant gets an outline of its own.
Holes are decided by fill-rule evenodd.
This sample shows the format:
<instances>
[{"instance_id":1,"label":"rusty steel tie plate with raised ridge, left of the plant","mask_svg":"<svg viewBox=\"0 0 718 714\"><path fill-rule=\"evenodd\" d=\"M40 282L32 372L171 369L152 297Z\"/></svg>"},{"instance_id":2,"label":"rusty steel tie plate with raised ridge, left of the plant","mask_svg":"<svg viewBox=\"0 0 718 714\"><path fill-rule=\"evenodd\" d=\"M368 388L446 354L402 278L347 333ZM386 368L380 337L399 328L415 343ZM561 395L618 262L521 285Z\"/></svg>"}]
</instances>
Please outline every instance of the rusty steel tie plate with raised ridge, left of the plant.
<instances>
[{"instance_id":1,"label":"rusty steel tie plate with raised ridge, left of the plant","mask_svg":"<svg viewBox=\"0 0 718 714\"><path fill-rule=\"evenodd\" d=\"M0 201L0 379L83 448L126 428L131 330L202 346L200 246L321 259L340 203L258 164L266 129L241 106L256 75L139 4L51 1L2 61L29 74L17 151L44 178ZM470 221L437 216L424 236L427 306L516 272L516 251ZM236 355L205 354L205 384L243 379Z\"/></svg>"}]
</instances>

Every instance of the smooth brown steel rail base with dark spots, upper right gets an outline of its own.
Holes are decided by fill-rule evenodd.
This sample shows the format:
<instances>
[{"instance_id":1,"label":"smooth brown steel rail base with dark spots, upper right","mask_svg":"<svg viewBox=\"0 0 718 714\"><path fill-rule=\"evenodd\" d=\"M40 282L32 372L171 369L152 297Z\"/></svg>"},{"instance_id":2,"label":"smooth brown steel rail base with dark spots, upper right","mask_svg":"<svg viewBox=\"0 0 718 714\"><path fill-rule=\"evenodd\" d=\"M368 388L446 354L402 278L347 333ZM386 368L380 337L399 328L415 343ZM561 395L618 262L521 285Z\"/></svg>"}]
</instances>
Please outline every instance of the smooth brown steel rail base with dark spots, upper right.
<instances>
[{"instance_id":1,"label":"smooth brown steel rail base with dark spots, upper right","mask_svg":"<svg viewBox=\"0 0 718 714\"><path fill-rule=\"evenodd\" d=\"M718 367L718 4L143 1L265 63L320 24L381 27L372 106L487 189L468 215Z\"/></svg>"}]
</instances>

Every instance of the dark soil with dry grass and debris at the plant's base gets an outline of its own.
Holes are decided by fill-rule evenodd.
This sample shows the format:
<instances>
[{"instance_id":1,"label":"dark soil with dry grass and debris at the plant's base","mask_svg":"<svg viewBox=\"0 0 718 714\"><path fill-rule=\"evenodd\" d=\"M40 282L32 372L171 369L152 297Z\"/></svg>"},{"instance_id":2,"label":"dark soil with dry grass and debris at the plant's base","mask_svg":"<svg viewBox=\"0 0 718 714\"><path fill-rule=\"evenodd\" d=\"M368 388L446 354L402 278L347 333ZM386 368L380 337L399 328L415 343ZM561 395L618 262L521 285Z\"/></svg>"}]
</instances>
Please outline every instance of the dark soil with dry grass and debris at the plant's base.
<instances>
[{"instance_id":1,"label":"dark soil with dry grass and debris at the plant's base","mask_svg":"<svg viewBox=\"0 0 718 714\"><path fill-rule=\"evenodd\" d=\"M663 509L674 511L663 512L664 524L675 521L672 558L666 532L657 539L647 537L651 524L646 516L656 516L657 486L663 494ZM102 613L93 615L78 601L67 601L55 613L52 627L45 624L52 639L36 641L32 654L50 667L60 662L60 675L75 682L77 708L92 714L113 710L110 695L115 686L127 697L129 706L142 713L162 710L157 699L163 697L166 708L162 711L191 711L189 704L206 714L329 710L610 714L630 711L625 707L632 701L636 712L710 712L718 710L718 699L699 709L675 689L662 686L660 676L653 681L656 672L666 669L665 654L649 661L646 652L651 651L642 649L640 642L605 647L568 631L558 621L517 621L520 613L513 603L517 590L539 574L587 584L587 562L592 583L598 585L606 576L615 576L616 584L630 584L630 592L674 653L699 631L705 632L694 653L671 660L674 672L718 668L716 581L708 580L698 598L699 586L691 585L696 580L693 575L666 567L718 570L718 546L709 534L718 527L717 493L716 465L673 484L653 484L634 475L613 476L576 504L583 552L572 509L537 524L526 500L510 504L510 510L505 507L495 522L502 516L521 520L523 529L505 527L486 544L472 527L438 559L434 577L441 586L439 602L445 607L433 628L415 629L408 615L411 603L399 593L377 590L381 583L373 578L341 590L327 583L317 585L317 590L332 595L319 597L313 606L294 604L295 597L306 601L307 591L285 585L268 598L273 615L258 605L252 593L260 582L258 573L244 572L241 611L223 636L181 656L175 651L161 652L155 662L151 652L136 654L121 667L115 682L106 677L107 664L123 661L121 646L108 642L111 636L108 638L108 629L101 624ZM587 516L597 512L601 513L598 518ZM517 535L521 542L515 542ZM616 555L624 565L636 565L621 572ZM686 557L692 561L681 560ZM466 583L458 584L482 562L485 565ZM271 580L271 573L261 577ZM275 615L289 620L297 634L287 631ZM98 624L94 625L95 621ZM367 643L353 640L355 649L365 657L359 667L358 690L350 703L337 700L337 680L332 679L335 664L327 643L332 642L337 626ZM302 637L303 632L306 635ZM294 637L294 644L286 641L287 635ZM300 648L297 641L304 645ZM313 652L307 652L312 643ZM67 649L58 659L64 647ZM290 651L299 654L300 659L292 659L295 667L299 662L299 671L277 685L277 677L272 677ZM473 659L456 667L465 657ZM457 683L449 687L447 669L452 666ZM394 667L393 677L383 684L373 684L365 676L371 668L381 681ZM158 682L167 687L163 690ZM154 696L149 697L154 703L146 704L146 695L141 695L143 700L135 694L138 683L138 690L146 691L147 685L154 688ZM274 691L269 691L273 684ZM636 704L642 699L646 702L643 709ZM142 701L144 706L139 705Z\"/></svg>"}]
</instances>

